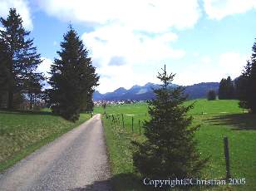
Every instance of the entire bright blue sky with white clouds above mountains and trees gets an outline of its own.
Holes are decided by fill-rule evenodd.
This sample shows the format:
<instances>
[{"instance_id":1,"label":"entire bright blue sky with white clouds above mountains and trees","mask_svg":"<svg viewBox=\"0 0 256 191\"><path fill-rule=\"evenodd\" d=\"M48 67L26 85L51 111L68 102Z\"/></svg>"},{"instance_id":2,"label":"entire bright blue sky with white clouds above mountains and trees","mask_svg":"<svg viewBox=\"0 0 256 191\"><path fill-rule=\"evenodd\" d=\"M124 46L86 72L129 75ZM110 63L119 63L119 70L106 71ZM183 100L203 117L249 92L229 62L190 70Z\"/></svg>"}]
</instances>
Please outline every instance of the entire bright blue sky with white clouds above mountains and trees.
<instances>
[{"instance_id":1,"label":"entire bright blue sky with white clouds above mountains and trees","mask_svg":"<svg viewBox=\"0 0 256 191\"><path fill-rule=\"evenodd\" d=\"M15 7L49 76L71 23L100 76L97 91L160 83L193 85L238 77L256 38L256 0L0 0L0 17Z\"/></svg>"}]
</instances>

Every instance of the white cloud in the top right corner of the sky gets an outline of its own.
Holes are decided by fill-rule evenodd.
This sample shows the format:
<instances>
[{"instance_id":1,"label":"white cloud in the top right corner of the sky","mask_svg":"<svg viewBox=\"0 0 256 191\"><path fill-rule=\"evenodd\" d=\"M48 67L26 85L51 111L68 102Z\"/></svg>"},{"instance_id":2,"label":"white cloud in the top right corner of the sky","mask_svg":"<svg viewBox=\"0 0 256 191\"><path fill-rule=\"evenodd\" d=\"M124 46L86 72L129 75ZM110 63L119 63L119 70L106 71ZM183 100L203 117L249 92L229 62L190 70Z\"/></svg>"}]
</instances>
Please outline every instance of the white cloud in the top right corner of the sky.
<instances>
[{"instance_id":1,"label":"white cloud in the top right corner of the sky","mask_svg":"<svg viewBox=\"0 0 256 191\"><path fill-rule=\"evenodd\" d=\"M256 8L255 0L204 0L205 12L209 18L217 20L253 8Z\"/></svg>"}]
</instances>

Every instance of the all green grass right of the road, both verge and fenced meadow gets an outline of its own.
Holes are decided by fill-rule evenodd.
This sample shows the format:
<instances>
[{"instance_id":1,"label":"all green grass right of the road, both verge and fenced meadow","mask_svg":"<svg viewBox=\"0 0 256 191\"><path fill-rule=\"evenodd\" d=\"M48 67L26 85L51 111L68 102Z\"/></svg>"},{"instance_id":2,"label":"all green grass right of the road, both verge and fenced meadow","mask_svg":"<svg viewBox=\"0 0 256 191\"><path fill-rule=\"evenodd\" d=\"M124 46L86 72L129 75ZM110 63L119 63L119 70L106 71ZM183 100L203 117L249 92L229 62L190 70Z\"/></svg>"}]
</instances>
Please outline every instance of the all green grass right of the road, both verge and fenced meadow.
<instances>
[{"instance_id":1,"label":"all green grass right of the road, both verge and fenced meadow","mask_svg":"<svg viewBox=\"0 0 256 191\"><path fill-rule=\"evenodd\" d=\"M191 104L190 100L185 104ZM122 123L113 124L103 118L106 130L106 142L111 160L111 182L115 190L144 190L139 174L132 164L131 140L144 139L139 134L138 120L148 120L147 105L108 105L106 113L121 119L124 114L125 128ZM96 113L103 113L98 107ZM190 110L194 125L201 127L196 133L198 149L203 157L210 156L209 163L202 171L204 179L224 179L225 161L223 138L229 138L230 167L234 179L246 179L245 186L229 185L208 187L208 190L255 190L256 189L256 115L243 113L237 100L195 100L194 109ZM131 131L131 117L134 118L134 132ZM124 189L126 188L126 189ZM146 188L145 190L148 190ZM194 190L198 190L195 188Z\"/></svg>"}]
</instances>

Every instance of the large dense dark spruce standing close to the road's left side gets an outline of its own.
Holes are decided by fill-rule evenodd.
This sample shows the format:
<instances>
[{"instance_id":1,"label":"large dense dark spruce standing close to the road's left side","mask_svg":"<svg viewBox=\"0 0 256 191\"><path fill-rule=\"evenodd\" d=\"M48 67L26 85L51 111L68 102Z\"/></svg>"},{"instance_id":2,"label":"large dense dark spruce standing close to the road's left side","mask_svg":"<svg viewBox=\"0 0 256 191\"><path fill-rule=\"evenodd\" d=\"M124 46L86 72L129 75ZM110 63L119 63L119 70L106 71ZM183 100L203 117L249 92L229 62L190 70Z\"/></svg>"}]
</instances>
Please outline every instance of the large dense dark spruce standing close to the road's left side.
<instances>
[{"instance_id":1,"label":"large dense dark spruce standing close to the road's left side","mask_svg":"<svg viewBox=\"0 0 256 191\"><path fill-rule=\"evenodd\" d=\"M91 107L92 93L99 76L92 66L88 50L70 26L61 42L60 56L51 67L49 104L52 111L66 120L78 120L81 110ZM91 109L91 108L90 108Z\"/></svg>"}]
</instances>

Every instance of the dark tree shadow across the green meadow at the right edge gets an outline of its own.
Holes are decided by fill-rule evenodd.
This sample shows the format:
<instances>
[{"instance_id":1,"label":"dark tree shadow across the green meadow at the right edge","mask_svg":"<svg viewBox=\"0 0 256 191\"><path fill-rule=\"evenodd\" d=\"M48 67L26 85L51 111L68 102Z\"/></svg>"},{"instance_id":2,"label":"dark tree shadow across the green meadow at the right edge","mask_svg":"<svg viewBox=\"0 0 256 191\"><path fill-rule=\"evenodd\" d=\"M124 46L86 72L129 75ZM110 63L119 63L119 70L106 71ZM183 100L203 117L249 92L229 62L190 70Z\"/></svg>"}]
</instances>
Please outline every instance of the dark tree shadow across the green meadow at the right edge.
<instances>
[{"instance_id":1,"label":"dark tree shadow across the green meadow at the right edge","mask_svg":"<svg viewBox=\"0 0 256 191\"><path fill-rule=\"evenodd\" d=\"M255 114L218 115L206 121L211 125L230 125L233 130L256 130Z\"/></svg>"}]
</instances>

